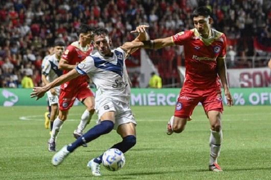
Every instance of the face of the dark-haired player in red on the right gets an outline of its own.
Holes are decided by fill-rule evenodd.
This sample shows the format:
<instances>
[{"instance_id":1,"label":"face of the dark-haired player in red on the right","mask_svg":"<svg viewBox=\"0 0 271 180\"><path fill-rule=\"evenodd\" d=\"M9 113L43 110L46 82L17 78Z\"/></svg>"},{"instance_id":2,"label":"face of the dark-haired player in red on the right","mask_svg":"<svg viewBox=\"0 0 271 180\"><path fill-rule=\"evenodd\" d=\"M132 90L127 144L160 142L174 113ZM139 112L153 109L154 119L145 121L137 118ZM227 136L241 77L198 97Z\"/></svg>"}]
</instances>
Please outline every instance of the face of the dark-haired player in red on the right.
<instances>
[{"instance_id":1,"label":"face of the dark-haired player in red on the right","mask_svg":"<svg viewBox=\"0 0 271 180\"><path fill-rule=\"evenodd\" d=\"M208 37L208 33L212 24L212 18L198 16L193 18L194 26L202 37Z\"/></svg>"}]
</instances>

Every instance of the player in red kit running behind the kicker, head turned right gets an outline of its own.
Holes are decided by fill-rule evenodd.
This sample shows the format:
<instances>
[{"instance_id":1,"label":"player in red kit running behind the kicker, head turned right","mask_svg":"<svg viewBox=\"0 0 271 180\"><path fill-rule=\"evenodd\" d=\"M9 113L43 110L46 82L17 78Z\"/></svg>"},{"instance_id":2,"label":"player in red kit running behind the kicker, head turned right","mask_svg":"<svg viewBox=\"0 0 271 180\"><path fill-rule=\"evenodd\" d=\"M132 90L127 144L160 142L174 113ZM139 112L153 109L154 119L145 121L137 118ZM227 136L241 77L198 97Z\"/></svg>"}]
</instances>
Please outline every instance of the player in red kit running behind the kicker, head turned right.
<instances>
[{"instance_id":1,"label":"player in red kit running behind the kicker, head turned right","mask_svg":"<svg viewBox=\"0 0 271 180\"><path fill-rule=\"evenodd\" d=\"M93 51L93 46L91 45L91 40L93 38L92 31L93 29L85 24L82 24L79 27L77 31L79 40L73 42L66 48L59 61L58 68L63 70L63 74L67 74L69 71L73 70L77 64L91 54ZM89 78L87 76L79 76L60 86L59 114L54 121L51 138L48 143L48 146L51 147L51 149L54 149L54 151L58 132L64 121L67 119L69 109L73 106L76 98L86 106L80 124L74 131L74 137L76 139L82 136L83 130L89 121L91 121L95 111L95 99L88 82ZM87 145L83 144L83 146L86 147Z\"/></svg>"}]
</instances>

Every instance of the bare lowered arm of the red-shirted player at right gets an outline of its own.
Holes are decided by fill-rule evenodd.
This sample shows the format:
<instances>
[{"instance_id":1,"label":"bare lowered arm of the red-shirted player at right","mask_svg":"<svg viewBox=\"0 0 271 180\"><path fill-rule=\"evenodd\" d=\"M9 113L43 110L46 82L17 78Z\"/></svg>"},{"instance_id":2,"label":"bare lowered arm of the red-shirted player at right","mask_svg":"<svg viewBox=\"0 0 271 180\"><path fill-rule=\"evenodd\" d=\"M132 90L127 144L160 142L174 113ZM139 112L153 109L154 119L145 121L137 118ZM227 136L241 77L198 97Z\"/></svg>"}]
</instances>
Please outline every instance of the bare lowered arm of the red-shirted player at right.
<instances>
[{"instance_id":1,"label":"bare lowered arm of the red-shirted player at right","mask_svg":"<svg viewBox=\"0 0 271 180\"><path fill-rule=\"evenodd\" d=\"M226 74L226 65L225 65L225 58L223 57L218 57L217 58L217 74L221 80L222 87L224 89L224 94L227 98L227 105L232 106L234 105L234 100L232 98L229 85L228 85L228 80L227 80L227 74Z\"/></svg>"}]
</instances>

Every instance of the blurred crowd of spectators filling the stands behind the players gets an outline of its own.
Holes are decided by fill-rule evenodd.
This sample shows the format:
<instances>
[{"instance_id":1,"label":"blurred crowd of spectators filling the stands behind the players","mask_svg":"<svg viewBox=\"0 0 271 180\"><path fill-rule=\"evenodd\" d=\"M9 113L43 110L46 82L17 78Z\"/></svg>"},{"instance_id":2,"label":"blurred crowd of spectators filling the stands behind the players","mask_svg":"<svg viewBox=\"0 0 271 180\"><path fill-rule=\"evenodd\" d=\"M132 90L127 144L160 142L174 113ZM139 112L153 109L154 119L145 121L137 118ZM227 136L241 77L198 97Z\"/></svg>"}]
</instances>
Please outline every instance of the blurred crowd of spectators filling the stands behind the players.
<instances>
[{"instance_id":1,"label":"blurred crowd of spectators filling the stands behind the players","mask_svg":"<svg viewBox=\"0 0 271 180\"><path fill-rule=\"evenodd\" d=\"M41 61L48 54L48 47L53 46L55 40L64 41L66 46L77 40L76 29L81 23L108 29L118 47L134 38L130 31L139 24L150 25L151 38L192 29L190 14L198 6L207 6L212 11L213 28L225 33L230 56L253 56L253 38L271 47L270 1L0 1L0 87L21 87L24 76L31 77L34 85L39 86ZM182 65L184 59L182 48L148 50L148 54L163 84L169 83L172 74L177 79L176 66ZM134 60L138 57L135 53L132 65L140 65L140 60ZM230 68L242 66L233 63ZM138 74L130 76L133 86L138 85L135 76Z\"/></svg>"}]
</instances>

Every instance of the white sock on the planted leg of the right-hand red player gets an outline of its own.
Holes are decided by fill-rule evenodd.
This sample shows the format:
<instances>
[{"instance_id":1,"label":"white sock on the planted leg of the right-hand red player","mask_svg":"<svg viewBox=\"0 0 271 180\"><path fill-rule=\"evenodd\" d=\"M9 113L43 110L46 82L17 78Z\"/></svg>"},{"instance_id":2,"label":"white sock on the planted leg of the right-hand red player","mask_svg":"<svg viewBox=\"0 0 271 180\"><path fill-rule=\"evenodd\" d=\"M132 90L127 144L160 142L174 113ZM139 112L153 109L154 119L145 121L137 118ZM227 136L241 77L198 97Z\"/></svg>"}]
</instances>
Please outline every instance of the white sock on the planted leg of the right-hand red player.
<instances>
[{"instance_id":1,"label":"white sock on the planted leg of the right-hand red player","mask_svg":"<svg viewBox=\"0 0 271 180\"><path fill-rule=\"evenodd\" d=\"M210 144L209 164L210 165L217 163L217 158L220 154L222 139L223 139L222 130L220 130L219 132L211 130L211 136L210 136L210 141L209 141L209 144Z\"/></svg>"}]
</instances>

